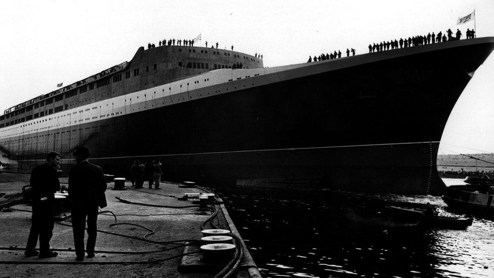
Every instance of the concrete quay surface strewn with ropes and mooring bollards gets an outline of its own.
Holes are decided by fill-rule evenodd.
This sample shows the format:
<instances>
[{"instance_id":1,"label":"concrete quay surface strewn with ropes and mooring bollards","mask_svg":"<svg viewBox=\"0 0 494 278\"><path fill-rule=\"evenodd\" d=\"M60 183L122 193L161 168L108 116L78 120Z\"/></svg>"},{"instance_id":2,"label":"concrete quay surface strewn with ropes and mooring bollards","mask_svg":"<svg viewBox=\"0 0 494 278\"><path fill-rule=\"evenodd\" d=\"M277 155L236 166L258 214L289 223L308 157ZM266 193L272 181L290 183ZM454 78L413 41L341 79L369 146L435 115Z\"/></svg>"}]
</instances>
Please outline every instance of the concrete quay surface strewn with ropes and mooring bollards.
<instances>
[{"instance_id":1,"label":"concrete quay surface strewn with ropes and mooring bollards","mask_svg":"<svg viewBox=\"0 0 494 278\"><path fill-rule=\"evenodd\" d=\"M60 181L63 184L67 179L60 178ZM27 184L28 174L2 172L0 193L6 195L0 197L0 203L6 201L6 197L21 192ZM204 224L213 214L212 211L199 211L198 207L191 207L198 204L190 199L181 201L177 198L185 192L201 193L207 190L183 188L179 187L182 186L180 184L167 182L161 183L161 190L147 189L147 182L140 191L130 188L132 184L128 181L125 183L127 190L111 190L113 185L108 183L108 207L102 210L110 212L98 216L98 230L101 231L97 236L96 256L85 258L84 262L75 260L70 217L56 221L53 229L50 245L58 256L40 259L24 256L31 226L31 213L26 211L30 211L31 207L19 204L11 207L13 211L0 212L0 277L213 277L229 261L204 260L199 251L202 244L198 242L202 237L201 225L206 229L227 229L238 236L239 244L236 245L241 251L237 249L236 252L243 254L243 257L234 265L230 263L236 270L228 273L229 276L261 276L221 199L213 205L217 216ZM133 203L167 207L123 203L115 197ZM64 209L64 213L69 216L70 210ZM117 225L112 225L115 223ZM184 255L190 252L192 254ZM221 276L225 273L223 271Z\"/></svg>"}]
</instances>

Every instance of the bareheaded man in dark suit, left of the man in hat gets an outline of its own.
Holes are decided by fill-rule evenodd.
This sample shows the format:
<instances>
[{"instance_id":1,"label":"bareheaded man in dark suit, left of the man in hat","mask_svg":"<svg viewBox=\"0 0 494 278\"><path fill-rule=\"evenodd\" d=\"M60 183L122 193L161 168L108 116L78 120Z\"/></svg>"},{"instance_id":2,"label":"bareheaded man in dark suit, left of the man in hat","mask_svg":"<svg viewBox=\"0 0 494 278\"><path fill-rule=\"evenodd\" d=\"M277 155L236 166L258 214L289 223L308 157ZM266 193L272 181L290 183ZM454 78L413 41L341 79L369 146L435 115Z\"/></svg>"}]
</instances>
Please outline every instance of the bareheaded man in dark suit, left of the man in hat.
<instances>
[{"instance_id":1,"label":"bareheaded man in dark suit, left of the man in hat","mask_svg":"<svg viewBox=\"0 0 494 278\"><path fill-rule=\"evenodd\" d=\"M53 235L54 192L60 190L57 169L60 164L60 154L50 152L46 163L32 169L30 186L32 187L32 216L31 230L27 239L25 255L39 258L56 257L57 252L50 251L50 240ZM39 251L34 250L39 235Z\"/></svg>"}]
</instances>

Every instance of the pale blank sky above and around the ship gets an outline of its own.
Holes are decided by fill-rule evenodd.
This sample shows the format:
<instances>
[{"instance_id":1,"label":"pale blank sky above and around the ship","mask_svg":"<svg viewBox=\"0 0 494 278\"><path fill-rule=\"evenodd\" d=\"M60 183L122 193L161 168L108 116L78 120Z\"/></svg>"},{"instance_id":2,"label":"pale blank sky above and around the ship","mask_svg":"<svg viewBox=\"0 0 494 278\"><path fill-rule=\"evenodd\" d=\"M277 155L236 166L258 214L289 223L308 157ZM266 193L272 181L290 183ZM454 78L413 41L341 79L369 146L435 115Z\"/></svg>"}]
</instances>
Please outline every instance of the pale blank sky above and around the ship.
<instances>
[{"instance_id":1,"label":"pale blank sky above and around the ship","mask_svg":"<svg viewBox=\"0 0 494 278\"><path fill-rule=\"evenodd\" d=\"M166 38L254 55L264 66L459 28L475 10L477 37L494 36L494 1L2 1L0 111L130 61ZM195 44L194 46L198 46ZM494 54L452 110L439 154L494 152Z\"/></svg>"}]
</instances>

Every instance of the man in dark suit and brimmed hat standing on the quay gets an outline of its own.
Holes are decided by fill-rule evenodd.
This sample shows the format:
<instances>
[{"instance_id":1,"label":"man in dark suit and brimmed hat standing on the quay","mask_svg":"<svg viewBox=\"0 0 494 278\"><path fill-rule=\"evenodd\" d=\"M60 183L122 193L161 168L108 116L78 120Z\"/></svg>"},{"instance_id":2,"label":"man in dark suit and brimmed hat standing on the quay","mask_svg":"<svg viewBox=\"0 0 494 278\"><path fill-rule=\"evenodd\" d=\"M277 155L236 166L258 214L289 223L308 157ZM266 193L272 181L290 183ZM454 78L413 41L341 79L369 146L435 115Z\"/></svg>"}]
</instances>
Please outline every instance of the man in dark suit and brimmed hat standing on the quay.
<instances>
[{"instance_id":1,"label":"man in dark suit and brimmed hat standing on the quay","mask_svg":"<svg viewBox=\"0 0 494 278\"><path fill-rule=\"evenodd\" d=\"M77 261L84 260L84 230L88 219L88 258L94 257L96 245L96 221L98 207L106 207L106 181L101 167L88 161L89 149L78 147L73 153L77 165L70 169L69 193L72 201L72 230L74 233L75 255Z\"/></svg>"}]
</instances>

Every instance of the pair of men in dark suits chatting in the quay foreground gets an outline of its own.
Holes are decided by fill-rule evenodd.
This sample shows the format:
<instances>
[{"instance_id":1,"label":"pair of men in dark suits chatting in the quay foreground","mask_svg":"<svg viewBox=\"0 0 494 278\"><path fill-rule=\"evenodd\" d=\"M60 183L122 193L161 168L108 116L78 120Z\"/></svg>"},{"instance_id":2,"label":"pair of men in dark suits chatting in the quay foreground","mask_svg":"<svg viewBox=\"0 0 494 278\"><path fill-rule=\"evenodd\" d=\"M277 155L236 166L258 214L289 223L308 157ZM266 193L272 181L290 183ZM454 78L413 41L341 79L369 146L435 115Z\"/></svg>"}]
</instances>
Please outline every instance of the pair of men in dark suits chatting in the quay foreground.
<instances>
[{"instance_id":1,"label":"pair of men in dark suits chatting in the quay foreground","mask_svg":"<svg viewBox=\"0 0 494 278\"><path fill-rule=\"evenodd\" d=\"M85 252L93 258L96 245L98 208L106 203L106 180L101 167L89 163L89 149L78 147L73 153L76 165L69 172L68 197L71 201L71 221L77 261L84 261ZM61 156L58 152L50 152L46 163L33 168L30 178L32 187L31 229L27 240L25 255L27 257L51 258L58 255L50 250L53 235L53 213L55 206L54 192L61 189L58 179ZM88 230L86 250L84 234ZM35 250L39 237L39 252Z\"/></svg>"}]
</instances>

